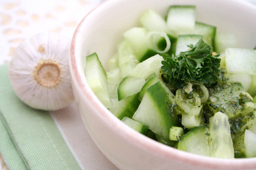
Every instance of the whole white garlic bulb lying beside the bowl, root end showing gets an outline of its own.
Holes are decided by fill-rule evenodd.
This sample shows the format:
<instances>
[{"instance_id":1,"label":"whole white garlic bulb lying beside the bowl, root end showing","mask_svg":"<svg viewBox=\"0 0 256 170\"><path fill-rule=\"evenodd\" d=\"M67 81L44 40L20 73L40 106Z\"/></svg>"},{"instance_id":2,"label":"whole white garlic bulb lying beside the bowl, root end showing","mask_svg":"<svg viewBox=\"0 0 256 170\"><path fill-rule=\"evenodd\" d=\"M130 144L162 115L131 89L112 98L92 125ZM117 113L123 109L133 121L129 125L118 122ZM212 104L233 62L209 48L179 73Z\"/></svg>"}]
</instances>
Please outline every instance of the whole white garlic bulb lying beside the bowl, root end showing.
<instances>
[{"instance_id":1,"label":"whole white garlic bulb lying beside the bowl, root end showing","mask_svg":"<svg viewBox=\"0 0 256 170\"><path fill-rule=\"evenodd\" d=\"M57 33L39 33L15 49L9 78L20 100L46 111L71 104L69 45L69 39Z\"/></svg>"}]
</instances>

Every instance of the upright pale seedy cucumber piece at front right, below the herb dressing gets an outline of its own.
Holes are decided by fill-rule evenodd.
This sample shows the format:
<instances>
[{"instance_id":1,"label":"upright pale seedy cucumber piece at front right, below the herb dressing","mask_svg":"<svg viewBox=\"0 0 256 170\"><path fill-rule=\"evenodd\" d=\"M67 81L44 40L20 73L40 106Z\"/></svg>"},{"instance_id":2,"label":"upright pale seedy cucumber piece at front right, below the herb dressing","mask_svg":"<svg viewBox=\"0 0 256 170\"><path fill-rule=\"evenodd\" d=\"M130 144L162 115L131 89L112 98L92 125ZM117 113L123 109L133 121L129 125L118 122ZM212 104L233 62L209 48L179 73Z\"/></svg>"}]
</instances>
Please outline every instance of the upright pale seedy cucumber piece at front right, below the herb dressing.
<instances>
[{"instance_id":1,"label":"upright pale seedy cucumber piece at front right, below the herb dressing","mask_svg":"<svg viewBox=\"0 0 256 170\"><path fill-rule=\"evenodd\" d=\"M234 148L230 134L229 117L217 112L209 120L210 156L216 158L234 158Z\"/></svg>"}]
</instances>

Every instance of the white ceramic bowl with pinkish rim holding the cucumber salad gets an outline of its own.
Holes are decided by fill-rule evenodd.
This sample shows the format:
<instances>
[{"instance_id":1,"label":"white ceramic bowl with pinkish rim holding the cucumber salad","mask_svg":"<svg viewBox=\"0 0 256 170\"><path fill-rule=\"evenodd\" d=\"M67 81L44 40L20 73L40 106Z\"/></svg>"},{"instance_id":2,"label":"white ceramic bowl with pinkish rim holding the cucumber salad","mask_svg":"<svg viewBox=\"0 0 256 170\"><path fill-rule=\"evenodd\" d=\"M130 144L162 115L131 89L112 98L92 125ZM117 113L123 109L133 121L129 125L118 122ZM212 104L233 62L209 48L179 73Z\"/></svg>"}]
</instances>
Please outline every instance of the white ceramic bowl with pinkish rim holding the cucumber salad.
<instances>
[{"instance_id":1,"label":"white ceramic bowl with pinkish rim holding the cucumber salad","mask_svg":"<svg viewBox=\"0 0 256 170\"><path fill-rule=\"evenodd\" d=\"M93 94L81 57L97 52L103 65L127 29L152 9L164 15L170 5L196 5L196 20L236 33L241 48L254 48L256 7L232 0L109 0L82 19L71 44L72 86L79 112L93 141L119 169L256 169L256 158L214 159L168 147L137 133L108 111ZM86 143L85 143L86 145Z\"/></svg>"}]
</instances>

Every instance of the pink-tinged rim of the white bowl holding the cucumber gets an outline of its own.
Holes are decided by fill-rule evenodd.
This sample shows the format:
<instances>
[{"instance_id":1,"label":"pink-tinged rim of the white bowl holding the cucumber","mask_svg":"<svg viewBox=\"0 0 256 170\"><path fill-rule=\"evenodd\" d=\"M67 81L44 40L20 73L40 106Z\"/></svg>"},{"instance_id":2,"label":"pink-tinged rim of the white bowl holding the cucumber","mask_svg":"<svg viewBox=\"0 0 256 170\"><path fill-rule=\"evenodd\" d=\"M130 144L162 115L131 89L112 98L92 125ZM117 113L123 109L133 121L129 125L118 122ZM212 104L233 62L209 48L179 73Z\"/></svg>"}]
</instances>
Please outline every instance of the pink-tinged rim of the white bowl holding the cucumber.
<instances>
[{"instance_id":1,"label":"pink-tinged rim of the white bowl holding the cucumber","mask_svg":"<svg viewBox=\"0 0 256 170\"><path fill-rule=\"evenodd\" d=\"M70 54L69 54L69 66L71 70L71 75L75 79L76 83L80 88L80 92L85 98L89 101L90 105L96 109L98 113L100 113L106 122L111 122L111 124L118 125L119 130L122 133L122 137L128 139L129 141L133 141L141 148L148 150L150 152L154 152L157 155L163 156L167 159L172 159L178 161L180 163L186 163L195 165L197 167L208 167L208 168L215 168L215 169L245 169L245 168L256 168L256 158L242 158L242 159L223 159L223 158L212 158L209 156L202 156L191 154L189 152L180 151L176 148L163 145L160 142L156 142L137 131L129 128L123 122L121 122L117 117L115 117L108 109L104 107L104 105L97 99L97 97L93 94L92 90L90 90L89 84L86 82L85 78L82 78L79 72L79 64L77 61L76 50L77 49L77 42L82 39L80 37L80 30L84 27L86 20L91 17L95 12L105 8L109 5L109 3L116 2L118 0L107 0L100 5L96 6L91 10L88 14L84 16L81 20L79 25L77 26L75 32L73 33L71 47L70 47ZM215 0L215 1L222 1L222 0ZM226 0L230 3L238 3L243 6L253 7L256 10L256 5L251 5L251 3L241 0ZM228 3L228 2L226 2ZM110 123L108 123L110 124ZM117 131L114 126L110 127L113 131ZM143 142L142 142L143 141Z\"/></svg>"}]
</instances>

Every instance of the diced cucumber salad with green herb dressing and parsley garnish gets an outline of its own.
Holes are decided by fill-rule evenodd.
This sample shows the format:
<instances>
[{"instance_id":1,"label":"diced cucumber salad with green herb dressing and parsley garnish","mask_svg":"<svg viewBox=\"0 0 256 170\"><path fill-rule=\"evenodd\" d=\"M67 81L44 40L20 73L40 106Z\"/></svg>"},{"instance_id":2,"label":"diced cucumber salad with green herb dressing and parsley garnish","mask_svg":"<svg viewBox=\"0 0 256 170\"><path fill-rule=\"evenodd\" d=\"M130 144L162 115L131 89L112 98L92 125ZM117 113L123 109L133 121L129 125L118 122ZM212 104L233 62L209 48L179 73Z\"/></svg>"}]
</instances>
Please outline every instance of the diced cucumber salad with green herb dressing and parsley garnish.
<instances>
[{"instance_id":1,"label":"diced cucumber salad with green herb dressing and parsley garnish","mask_svg":"<svg viewBox=\"0 0 256 170\"><path fill-rule=\"evenodd\" d=\"M256 156L256 50L196 21L195 6L148 10L123 33L106 70L84 57L86 80L123 123L178 150Z\"/></svg>"}]
</instances>

